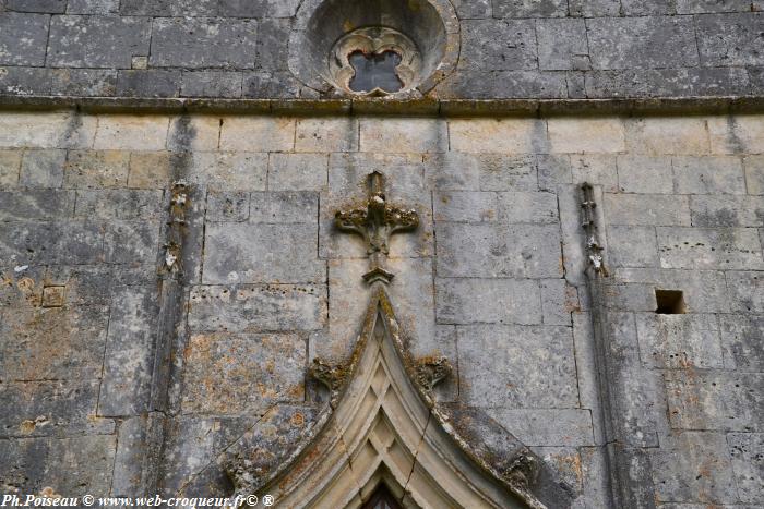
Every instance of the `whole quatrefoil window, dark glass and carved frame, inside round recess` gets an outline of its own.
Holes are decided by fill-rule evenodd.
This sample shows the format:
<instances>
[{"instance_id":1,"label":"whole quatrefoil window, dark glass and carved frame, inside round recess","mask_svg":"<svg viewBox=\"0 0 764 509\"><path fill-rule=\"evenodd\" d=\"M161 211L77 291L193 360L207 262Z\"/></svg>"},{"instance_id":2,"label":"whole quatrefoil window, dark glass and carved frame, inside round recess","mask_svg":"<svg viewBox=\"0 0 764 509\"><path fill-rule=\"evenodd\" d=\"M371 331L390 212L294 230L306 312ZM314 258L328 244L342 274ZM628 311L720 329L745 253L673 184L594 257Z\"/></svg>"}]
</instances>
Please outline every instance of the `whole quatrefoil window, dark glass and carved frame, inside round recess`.
<instances>
[{"instance_id":1,"label":"whole quatrefoil window, dark glass and carved frame, inside round recess","mask_svg":"<svg viewBox=\"0 0 764 509\"><path fill-rule=\"evenodd\" d=\"M335 85L344 92L383 96L414 86L421 57L402 33L367 27L346 34L334 45L329 66Z\"/></svg>"}]
</instances>

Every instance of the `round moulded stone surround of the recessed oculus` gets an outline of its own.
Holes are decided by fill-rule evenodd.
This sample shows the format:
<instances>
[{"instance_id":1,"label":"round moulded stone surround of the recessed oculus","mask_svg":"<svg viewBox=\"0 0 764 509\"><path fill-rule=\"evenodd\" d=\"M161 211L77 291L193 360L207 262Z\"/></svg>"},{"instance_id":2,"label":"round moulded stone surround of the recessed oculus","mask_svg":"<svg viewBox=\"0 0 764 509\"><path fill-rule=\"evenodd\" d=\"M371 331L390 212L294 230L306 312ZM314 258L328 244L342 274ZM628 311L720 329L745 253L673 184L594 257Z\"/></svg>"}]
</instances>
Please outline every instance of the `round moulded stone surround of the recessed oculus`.
<instances>
[{"instance_id":1,"label":"round moulded stone surround of the recessed oculus","mask_svg":"<svg viewBox=\"0 0 764 509\"><path fill-rule=\"evenodd\" d=\"M327 2L332 0L305 0L298 11L295 19L295 24L289 35L289 59L288 66L289 71L295 75L295 77L300 81L305 86L312 88L320 94L332 94L334 93L341 97L369 97L373 94L370 93L358 93L349 90L346 86L337 83L337 76L332 74L332 65L330 64L330 59L335 58L334 51L337 44L348 36L348 34L358 31L359 28L392 28L393 31L401 32L404 36L411 38L411 34L407 34L405 31L399 29L397 26L389 25L384 23L384 13L380 13L382 23L379 24L366 24L359 26L345 26L348 22L345 22L344 31L333 40L325 40L318 44L315 40L311 39L311 32L315 28L311 26L314 23L314 17L317 13L321 11ZM440 82L445 80L455 69L458 62L459 49L461 49L461 33L459 33L459 21L456 16L456 11L449 0L420 0L421 3L427 3L432 10L438 14L440 21L442 22L443 28L443 40L435 48L435 51L442 51L442 57L434 64L431 65L431 70L428 75L415 75L411 80L413 83L405 84L402 90L395 93L385 93L384 97L390 98L402 98L410 97L411 95L426 95L432 90ZM344 15L343 12L336 12L338 17ZM417 41L414 40L416 44ZM417 46L419 52L420 61L426 61L428 58L428 51L431 48L421 48L421 45ZM425 70L427 66L421 65L417 69L417 72ZM427 71L426 71L427 72Z\"/></svg>"}]
</instances>

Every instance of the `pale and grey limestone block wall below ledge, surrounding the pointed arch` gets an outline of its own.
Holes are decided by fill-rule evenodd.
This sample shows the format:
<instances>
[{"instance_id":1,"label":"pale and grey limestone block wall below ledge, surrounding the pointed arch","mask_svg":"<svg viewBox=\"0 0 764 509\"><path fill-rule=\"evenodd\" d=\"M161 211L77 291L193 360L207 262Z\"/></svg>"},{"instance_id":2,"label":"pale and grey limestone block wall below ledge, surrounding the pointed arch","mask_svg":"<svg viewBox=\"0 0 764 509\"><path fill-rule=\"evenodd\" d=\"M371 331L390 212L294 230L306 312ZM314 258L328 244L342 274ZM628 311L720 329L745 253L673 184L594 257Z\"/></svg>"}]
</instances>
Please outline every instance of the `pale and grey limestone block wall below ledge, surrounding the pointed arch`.
<instances>
[{"instance_id":1,"label":"pale and grey limestone block wall below ledge, surrounding the pointed arch","mask_svg":"<svg viewBox=\"0 0 764 509\"><path fill-rule=\"evenodd\" d=\"M485 410L576 507L763 505L763 126L0 112L1 489L217 494L225 455L278 462L323 404L308 364L359 334L365 247L332 220L378 170L420 215L390 291L414 353L456 367L441 401Z\"/></svg>"}]
</instances>

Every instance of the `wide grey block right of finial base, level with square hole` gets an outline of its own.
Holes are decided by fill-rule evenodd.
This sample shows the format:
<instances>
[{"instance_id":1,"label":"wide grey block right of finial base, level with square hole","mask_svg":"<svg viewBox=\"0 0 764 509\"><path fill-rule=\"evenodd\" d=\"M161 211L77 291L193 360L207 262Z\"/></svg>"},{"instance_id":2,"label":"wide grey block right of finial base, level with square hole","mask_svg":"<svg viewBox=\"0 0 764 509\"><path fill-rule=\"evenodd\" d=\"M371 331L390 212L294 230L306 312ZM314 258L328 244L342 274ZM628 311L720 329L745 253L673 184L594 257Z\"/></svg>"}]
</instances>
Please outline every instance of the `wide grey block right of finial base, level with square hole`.
<instances>
[{"instance_id":1,"label":"wide grey block right of finial base, level with square hole","mask_svg":"<svg viewBox=\"0 0 764 509\"><path fill-rule=\"evenodd\" d=\"M541 324L541 293L533 279L435 280L439 324Z\"/></svg>"}]
</instances>

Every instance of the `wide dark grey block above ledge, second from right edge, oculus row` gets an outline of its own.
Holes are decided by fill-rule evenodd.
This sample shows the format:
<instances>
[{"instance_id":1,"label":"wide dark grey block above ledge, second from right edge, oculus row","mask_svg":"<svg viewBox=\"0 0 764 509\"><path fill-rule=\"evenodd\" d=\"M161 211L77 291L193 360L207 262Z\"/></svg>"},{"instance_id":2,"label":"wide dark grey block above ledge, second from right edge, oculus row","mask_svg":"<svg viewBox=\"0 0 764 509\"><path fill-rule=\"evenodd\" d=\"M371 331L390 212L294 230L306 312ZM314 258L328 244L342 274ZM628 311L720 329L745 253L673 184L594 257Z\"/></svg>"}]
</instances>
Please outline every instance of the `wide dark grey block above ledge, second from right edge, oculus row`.
<instances>
[{"instance_id":1,"label":"wide dark grey block above ledge, second from right edge, oculus row","mask_svg":"<svg viewBox=\"0 0 764 509\"><path fill-rule=\"evenodd\" d=\"M697 65L690 17L595 17L586 27L594 69Z\"/></svg>"}]
</instances>

